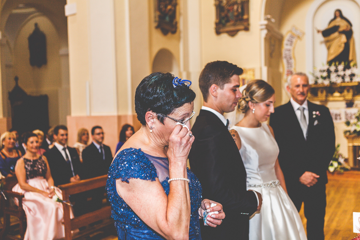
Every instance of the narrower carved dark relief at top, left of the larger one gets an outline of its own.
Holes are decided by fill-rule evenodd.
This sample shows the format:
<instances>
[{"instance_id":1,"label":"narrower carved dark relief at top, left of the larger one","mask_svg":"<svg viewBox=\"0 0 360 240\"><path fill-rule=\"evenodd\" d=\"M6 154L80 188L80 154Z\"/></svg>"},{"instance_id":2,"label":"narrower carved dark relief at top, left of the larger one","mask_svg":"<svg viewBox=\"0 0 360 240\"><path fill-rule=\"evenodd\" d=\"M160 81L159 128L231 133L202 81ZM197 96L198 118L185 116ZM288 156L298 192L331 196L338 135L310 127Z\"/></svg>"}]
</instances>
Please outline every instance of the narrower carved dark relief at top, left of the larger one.
<instances>
[{"instance_id":1,"label":"narrower carved dark relief at top, left of the larger one","mask_svg":"<svg viewBox=\"0 0 360 240\"><path fill-rule=\"evenodd\" d=\"M156 28L160 28L163 35L176 33L176 0L157 0L156 3Z\"/></svg>"}]
</instances>

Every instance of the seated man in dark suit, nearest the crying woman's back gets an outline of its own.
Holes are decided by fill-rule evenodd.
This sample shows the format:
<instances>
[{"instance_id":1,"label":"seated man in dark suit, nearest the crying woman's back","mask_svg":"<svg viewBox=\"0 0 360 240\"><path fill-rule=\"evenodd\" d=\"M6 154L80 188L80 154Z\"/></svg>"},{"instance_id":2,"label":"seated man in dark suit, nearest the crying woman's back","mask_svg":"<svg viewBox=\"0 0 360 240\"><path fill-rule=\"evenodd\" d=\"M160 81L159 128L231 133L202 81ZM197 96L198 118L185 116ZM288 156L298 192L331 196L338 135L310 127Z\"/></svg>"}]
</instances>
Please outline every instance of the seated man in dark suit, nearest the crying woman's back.
<instances>
[{"instance_id":1,"label":"seated man in dark suit, nearest the crying woman's back","mask_svg":"<svg viewBox=\"0 0 360 240\"><path fill-rule=\"evenodd\" d=\"M84 178L93 178L107 175L113 160L111 149L103 144L104 131L100 126L91 129L93 142L82 150L82 161L84 166ZM89 210L94 211L101 208L105 189L100 187L91 191Z\"/></svg>"}]
</instances>

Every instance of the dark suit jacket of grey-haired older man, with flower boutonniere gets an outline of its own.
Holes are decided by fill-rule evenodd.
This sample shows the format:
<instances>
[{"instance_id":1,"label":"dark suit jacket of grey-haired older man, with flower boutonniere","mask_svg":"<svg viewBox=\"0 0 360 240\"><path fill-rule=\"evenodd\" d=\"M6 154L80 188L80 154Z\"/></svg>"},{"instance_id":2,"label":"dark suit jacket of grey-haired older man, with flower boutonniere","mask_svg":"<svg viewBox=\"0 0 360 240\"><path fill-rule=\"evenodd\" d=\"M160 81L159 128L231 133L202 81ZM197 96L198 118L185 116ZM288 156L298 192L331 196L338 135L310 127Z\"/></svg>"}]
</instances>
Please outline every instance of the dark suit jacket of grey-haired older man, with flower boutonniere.
<instances>
[{"instance_id":1,"label":"dark suit jacket of grey-haired older man, with flower boutonniere","mask_svg":"<svg viewBox=\"0 0 360 240\"><path fill-rule=\"evenodd\" d=\"M299 178L306 171L320 176L316 184L326 184L327 169L335 151L334 123L329 109L310 101L307 104L309 125L306 140L290 101L275 108L270 116L288 189L301 186ZM317 111L320 116L315 114L313 117L313 112Z\"/></svg>"}]
</instances>

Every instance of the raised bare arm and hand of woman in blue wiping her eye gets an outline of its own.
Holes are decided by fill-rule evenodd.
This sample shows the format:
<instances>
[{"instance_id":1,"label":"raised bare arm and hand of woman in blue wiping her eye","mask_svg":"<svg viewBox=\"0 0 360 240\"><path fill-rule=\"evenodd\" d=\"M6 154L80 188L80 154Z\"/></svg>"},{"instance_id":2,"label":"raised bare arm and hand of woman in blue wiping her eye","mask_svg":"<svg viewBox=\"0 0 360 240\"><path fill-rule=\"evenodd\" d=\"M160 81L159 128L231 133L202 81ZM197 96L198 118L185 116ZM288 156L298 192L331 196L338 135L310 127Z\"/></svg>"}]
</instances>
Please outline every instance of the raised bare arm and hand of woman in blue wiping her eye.
<instances>
[{"instance_id":1,"label":"raised bare arm and hand of woman in blue wiping her eye","mask_svg":"<svg viewBox=\"0 0 360 240\"><path fill-rule=\"evenodd\" d=\"M186 135L187 128L176 126L169 139L167 157L170 178L187 178L186 160L194 137ZM166 239L188 239L190 225L189 184L183 180L171 181L166 196L159 179L145 181L116 180L121 198L150 228Z\"/></svg>"}]
</instances>

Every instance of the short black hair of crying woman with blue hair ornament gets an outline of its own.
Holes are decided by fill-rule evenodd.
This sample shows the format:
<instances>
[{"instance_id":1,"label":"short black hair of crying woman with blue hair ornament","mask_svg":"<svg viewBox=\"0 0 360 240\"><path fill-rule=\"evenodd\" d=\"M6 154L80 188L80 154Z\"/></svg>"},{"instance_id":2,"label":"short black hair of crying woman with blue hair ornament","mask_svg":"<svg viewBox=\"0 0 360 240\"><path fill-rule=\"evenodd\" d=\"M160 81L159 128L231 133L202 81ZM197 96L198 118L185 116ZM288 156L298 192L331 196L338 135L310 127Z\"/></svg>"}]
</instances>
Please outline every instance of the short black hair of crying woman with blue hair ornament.
<instances>
[{"instance_id":1,"label":"short black hair of crying woman with blue hair ornament","mask_svg":"<svg viewBox=\"0 0 360 240\"><path fill-rule=\"evenodd\" d=\"M175 76L171 73L152 73L146 76L135 91L135 112L143 126L146 125L145 113L157 113L158 120L164 124L164 115L169 115L176 108L195 99L195 92L188 86L177 89L172 85ZM160 113L160 114L159 114Z\"/></svg>"}]
</instances>

